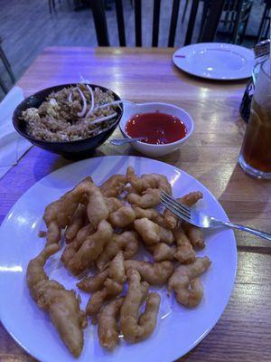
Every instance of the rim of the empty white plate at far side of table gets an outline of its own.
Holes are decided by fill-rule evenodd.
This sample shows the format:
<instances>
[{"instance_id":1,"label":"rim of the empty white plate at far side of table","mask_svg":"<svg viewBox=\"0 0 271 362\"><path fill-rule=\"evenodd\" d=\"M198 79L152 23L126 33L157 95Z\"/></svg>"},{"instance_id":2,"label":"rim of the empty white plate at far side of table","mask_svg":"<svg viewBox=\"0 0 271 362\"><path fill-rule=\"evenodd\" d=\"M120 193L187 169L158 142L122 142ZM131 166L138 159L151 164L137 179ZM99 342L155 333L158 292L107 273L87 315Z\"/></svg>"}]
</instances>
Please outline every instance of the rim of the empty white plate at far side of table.
<instances>
[{"instance_id":1,"label":"rim of the empty white plate at far side of table","mask_svg":"<svg viewBox=\"0 0 271 362\"><path fill-rule=\"evenodd\" d=\"M248 49L244 46L241 46L241 45L238 45L238 44L230 44L230 43L218 43L218 42L215 42L215 43L210 43L210 42L206 42L206 43L194 43L194 44L189 44L189 45L184 45L180 48L178 48L175 52L173 52L173 64L176 68L178 68L179 70L181 71L184 71L185 73L187 74L191 74L193 75L194 77L197 77L197 78L202 78L202 79L206 79L206 80L210 80L210 81L240 81L240 80L245 80L245 79L248 79L250 76L252 76L252 72L251 74L249 75L243 75L243 76L240 76L240 75L233 75L233 76L227 76L226 78L221 78L221 77L217 77L217 76L206 76L206 75L202 75L200 74L199 72L192 72L192 71L189 71L187 69L184 69L182 68L182 66L180 66L176 59L175 59L175 55L177 55L179 52L183 51L184 52L187 52L188 50L192 49L192 48L201 48L201 46L210 46L210 47L213 47L213 46L225 46L225 48L227 47L228 49L229 48L234 48L234 49L242 49L243 52L246 52L248 55L250 54L251 55L251 61L253 62L254 61L254 53L251 49ZM250 59L247 58L248 61L250 61Z\"/></svg>"}]
</instances>

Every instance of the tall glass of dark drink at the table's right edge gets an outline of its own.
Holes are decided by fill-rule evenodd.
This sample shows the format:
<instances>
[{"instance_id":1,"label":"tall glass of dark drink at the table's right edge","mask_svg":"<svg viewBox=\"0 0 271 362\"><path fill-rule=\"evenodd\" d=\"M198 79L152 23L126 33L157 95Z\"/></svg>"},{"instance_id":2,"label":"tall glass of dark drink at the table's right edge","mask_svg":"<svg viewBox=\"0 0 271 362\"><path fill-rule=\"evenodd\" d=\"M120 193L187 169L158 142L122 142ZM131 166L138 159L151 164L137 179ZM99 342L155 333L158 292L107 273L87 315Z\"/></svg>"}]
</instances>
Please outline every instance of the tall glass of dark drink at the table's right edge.
<instances>
[{"instance_id":1,"label":"tall glass of dark drink at the table's right edge","mask_svg":"<svg viewBox=\"0 0 271 362\"><path fill-rule=\"evenodd\" d=\"M270 60L261 64L238 164L248 175L271 179Z\"/></svg>"}]
</instances>

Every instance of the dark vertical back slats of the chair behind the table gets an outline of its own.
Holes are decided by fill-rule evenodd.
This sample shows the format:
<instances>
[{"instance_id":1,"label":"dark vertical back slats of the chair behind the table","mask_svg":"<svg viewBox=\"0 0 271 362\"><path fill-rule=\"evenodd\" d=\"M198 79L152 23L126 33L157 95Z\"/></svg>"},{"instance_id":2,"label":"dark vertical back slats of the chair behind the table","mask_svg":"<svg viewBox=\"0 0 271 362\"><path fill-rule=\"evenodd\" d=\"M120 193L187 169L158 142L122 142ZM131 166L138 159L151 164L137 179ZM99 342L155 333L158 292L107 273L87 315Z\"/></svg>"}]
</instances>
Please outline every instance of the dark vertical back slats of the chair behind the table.
<instances>
[{"instance_id":1,"label":"dark vertical back slats of the chair behind the table","mask_svg":"<svg viewBox=\"0 0 271 362\"><path fill-rule=\"evenodd\" d=\"M189 17L185 44L192 41L192 33L196 20L196 15L200 0L192 0L192 9ZM170 32L168 37L168 46L173 47L177 28L181 0L173 0L172 14L170 19ZM122 0L115 0L117 14L117 31L120 46L126 46L126 31L124 22L124 12ZM220 14L222 12L224 0L216 0L210 5L208 24L204 25L201 38L202 42L211 42L215 36L218 24L220 22ZM107 17L105 13L104 2L102 0L92 1L92 13L97 34L99 46L109 46L109 36L107 31ZM142 46L142 1L134 1L135 9L135 46ZM158 46L159 25L160 25L161 0L154 0L153 10L153 31L152 46Z\"/></svg>"}]
</instances>

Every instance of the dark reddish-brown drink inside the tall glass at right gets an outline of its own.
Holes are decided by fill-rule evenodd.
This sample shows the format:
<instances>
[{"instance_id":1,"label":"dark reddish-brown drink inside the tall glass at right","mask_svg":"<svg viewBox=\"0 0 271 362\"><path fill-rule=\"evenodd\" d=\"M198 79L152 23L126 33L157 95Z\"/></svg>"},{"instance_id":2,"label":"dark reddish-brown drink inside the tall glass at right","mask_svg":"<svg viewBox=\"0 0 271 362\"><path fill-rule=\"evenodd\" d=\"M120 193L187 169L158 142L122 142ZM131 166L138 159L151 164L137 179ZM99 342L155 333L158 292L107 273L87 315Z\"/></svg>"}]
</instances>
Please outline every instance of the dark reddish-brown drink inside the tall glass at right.
<instances>
[{"instance_id":1,"label":"dark reddish-brown drink inside the tall glass at right","mask_svg":"<svg viewBox=\"0 0 271 362\"><path fill-rule=\"evenodd\" d=\"M242 154L245 162L262 172L271 172L271 104L252 100Z\"/></svg>"}]
</instances>

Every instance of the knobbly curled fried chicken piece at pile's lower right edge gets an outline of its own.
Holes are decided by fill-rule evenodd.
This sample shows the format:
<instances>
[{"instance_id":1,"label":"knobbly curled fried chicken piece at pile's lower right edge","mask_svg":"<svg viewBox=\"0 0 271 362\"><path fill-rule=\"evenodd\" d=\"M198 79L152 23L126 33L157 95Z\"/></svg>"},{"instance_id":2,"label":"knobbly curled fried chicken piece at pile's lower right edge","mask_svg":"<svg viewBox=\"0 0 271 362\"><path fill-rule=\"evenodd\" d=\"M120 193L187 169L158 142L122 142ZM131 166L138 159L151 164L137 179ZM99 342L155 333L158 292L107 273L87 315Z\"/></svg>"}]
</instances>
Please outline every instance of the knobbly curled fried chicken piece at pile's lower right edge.
<instances>
[{"instance_id":1,"label":"knobbly curled fried chicken piece at pile's lower right edge","mask_svg":"<svg viewBox=\"0 0 271 362\"><path fill-rule=\"evenodd\" d=\"M168 281L169 291L175 291L176 300L185 307L196 307L203 296L199 276L210 267L210 259L196 258L195 262L178 266Z\"/></svg>"}]
</instances>

